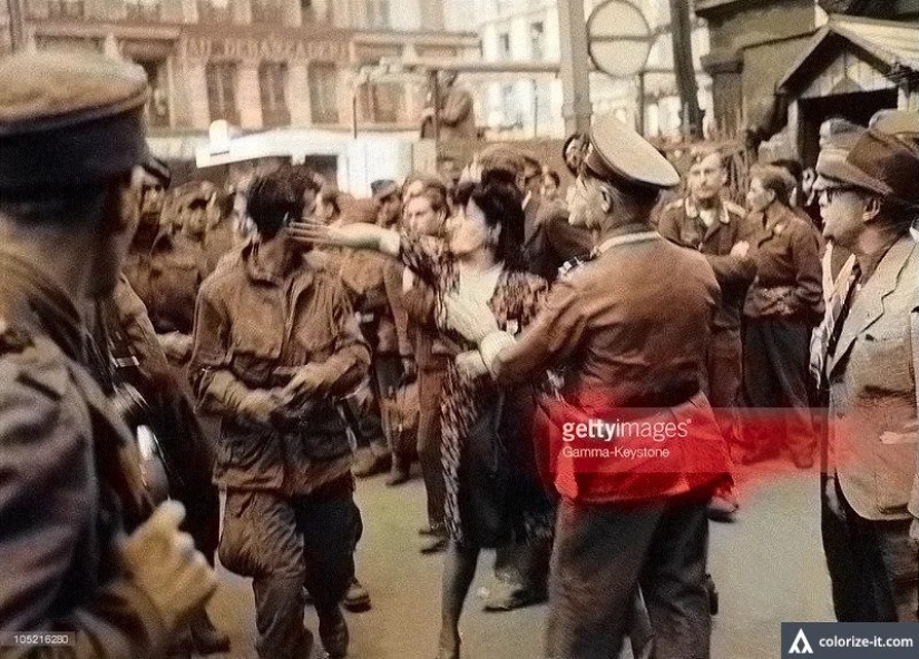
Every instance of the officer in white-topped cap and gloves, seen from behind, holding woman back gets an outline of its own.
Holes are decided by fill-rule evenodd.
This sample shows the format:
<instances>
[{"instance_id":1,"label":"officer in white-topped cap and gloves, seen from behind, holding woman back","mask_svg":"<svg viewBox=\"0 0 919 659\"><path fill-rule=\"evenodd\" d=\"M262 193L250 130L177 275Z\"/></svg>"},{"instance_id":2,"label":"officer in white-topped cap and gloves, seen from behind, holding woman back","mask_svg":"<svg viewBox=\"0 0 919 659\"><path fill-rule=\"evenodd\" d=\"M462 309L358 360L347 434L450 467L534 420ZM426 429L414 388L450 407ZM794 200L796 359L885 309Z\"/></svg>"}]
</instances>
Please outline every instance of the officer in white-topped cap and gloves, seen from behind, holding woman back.
<instances>
[{"instance_id":1,"label":"officer in white-topped cap and gloves, seen from behind, holding woman back","mask_svg":"<svg viewBox=\"0 0 919 659\"><path fill-rule=\"evenodd\" d=\"M499 382L567 366L566 409L707 411L705 434L671 442L675 459L647 471L627 462L579 470L565 451L549 586L548 657L617 657L636 589L644 593L655 657L708 657L706 501L727 449L700 374L718 286L705 258L649 224L661 189L678 184L667 160L610 116L595 120L571 222L596 236L594 258L561 278L516 340L475 302L447 302L449 323L479 345ZM492 316L493 317L493 316ZM702 430L702 429L698 429ZM542 439L541 441L545 441ZM654 472L654 473L652 473Z\"/></svg>"}]
</instances>

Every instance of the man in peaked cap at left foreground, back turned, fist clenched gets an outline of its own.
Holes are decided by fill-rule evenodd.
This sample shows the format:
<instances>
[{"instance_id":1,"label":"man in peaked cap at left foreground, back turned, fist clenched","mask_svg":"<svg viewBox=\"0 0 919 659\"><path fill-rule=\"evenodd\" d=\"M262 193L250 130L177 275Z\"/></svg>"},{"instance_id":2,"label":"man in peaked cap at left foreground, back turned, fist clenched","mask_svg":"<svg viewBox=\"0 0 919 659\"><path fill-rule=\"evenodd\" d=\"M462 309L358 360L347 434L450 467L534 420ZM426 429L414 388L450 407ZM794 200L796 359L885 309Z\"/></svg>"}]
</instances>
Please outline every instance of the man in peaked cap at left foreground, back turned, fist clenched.
<instances>
[{"instance_id":1,"label":"man in peaked cap at left foreground, back turned, fist clenched","mask_svg":"<svg viewBox=\"0 0 919 659\"><path fill-rule=\"evenodd\" d=\"M78 312L136 227L146 99L140 67L99 56L0 61L0 643L72 635L42 656L163 657L216 588L182 506L148 517Z\"/></svg>"}]
</instances>

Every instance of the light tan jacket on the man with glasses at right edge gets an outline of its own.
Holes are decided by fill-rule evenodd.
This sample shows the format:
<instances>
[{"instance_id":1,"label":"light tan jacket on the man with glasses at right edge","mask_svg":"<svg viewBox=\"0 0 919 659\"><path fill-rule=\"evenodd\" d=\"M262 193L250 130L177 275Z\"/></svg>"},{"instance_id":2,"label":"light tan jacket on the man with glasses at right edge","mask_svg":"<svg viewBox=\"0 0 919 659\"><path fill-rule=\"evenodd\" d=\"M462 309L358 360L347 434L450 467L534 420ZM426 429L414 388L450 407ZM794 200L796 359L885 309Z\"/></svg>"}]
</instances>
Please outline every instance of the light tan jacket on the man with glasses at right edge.
<instances>
[{"instance_id":1,"label":"light tan jacket on the man with glasses at right edge","mask_svg":"<svg viewBox=\"0 0 919 659\"><path fill-rule=\"evenodd\" d=\"M827 363L831 464L856 512L869 520L919 512L916 354L910 322L919 246L906 236L863 282ZM913 491L916 490L916 491Z\"/></svg>"}]
</instances>

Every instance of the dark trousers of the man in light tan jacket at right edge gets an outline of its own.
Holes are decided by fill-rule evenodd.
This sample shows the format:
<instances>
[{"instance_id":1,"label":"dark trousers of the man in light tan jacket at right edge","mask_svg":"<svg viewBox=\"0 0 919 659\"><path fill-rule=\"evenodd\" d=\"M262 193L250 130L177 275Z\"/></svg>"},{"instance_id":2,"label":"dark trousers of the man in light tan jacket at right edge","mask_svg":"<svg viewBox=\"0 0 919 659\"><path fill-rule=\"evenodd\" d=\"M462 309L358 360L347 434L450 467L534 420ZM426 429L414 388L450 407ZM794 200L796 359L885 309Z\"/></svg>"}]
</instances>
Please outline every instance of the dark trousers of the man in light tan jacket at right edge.
<instances>
[{"instance_id":1,"label":"dark trousers of the man in light tan jacket at right edge","mask_svg":"<svg viewBox=\"0 0 919 659\"><path fill-rule=\"evenodd\" d=\"M834 478L822 479L823 552L840 622L915 622L919 557L910 520L871 521L852 510Z\"/></svg>"}]
</instances>

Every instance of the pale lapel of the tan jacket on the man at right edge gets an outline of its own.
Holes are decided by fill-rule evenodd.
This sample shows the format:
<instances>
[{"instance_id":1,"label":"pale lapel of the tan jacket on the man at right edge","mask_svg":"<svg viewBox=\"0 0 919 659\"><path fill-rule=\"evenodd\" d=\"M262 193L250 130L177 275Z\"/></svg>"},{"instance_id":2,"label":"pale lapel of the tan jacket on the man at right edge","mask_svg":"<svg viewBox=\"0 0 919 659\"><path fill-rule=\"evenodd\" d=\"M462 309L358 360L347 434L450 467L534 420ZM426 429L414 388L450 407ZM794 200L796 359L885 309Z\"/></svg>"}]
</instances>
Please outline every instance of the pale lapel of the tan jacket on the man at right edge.
<instances>
[{"instance_id":1,"label":"pale lapel of the tan jacket on the man at right edge","mask_svg":"<svg viewBox=\"0 0 919 659\"><path fill-rule=\"evenodd\" d=\"M900 273L913 252L919 248L909 236L903 236L887 250L874 274L864 283L864 286L852 302L852 308L842 327L835 352L830 358L827 373L832 373L844 355L852 347L856 337L867 330L884 313L884 298L900 284ZM902 285L915 286L915 282L903 282Z\"/></svg>"}]
</instances>

